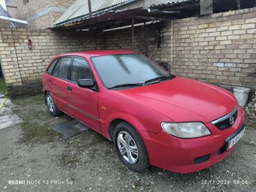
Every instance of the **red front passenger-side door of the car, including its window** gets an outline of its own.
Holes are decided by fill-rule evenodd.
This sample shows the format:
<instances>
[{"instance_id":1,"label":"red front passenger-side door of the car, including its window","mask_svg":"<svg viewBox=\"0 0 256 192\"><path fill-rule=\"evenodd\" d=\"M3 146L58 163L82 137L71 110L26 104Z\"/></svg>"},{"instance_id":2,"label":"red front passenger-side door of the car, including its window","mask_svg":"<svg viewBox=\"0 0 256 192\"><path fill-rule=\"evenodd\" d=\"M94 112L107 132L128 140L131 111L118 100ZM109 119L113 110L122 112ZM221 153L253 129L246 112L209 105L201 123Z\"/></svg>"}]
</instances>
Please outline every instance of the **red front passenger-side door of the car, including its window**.
<instances>
[{"instance_id":1,"label":"red front passenger-side door of the car, including its window","mask_svg":"<svg viewBox=\"0 0 256 192\"><path fill-rule=\"evenodd\" d=\"M101 133L98 113L99 92L96 88L91 90L77 86L79 79L94 79L94 77L88 61L82 57L74 57L68 83L70 88L68 90L68 113Z\"/></svg>"}]
</instances>

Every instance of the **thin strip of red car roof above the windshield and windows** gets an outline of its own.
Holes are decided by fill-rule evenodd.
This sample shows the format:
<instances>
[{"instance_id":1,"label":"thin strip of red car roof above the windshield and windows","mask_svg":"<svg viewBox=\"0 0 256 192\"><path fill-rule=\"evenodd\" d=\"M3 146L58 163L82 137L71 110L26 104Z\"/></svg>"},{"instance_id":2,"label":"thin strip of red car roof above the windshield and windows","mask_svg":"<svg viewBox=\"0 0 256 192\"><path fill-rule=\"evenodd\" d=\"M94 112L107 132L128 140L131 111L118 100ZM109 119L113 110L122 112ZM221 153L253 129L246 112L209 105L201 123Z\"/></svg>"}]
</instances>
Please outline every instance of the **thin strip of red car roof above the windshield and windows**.
<instances>
[{"instance_id":1,"label":"thin strip of red car roof above the windshield and windows","mask_svg":"<svg viewBox=\"0 0 256 192\"><path fill-rule=\"evenodd\" d=\"M118 54L134 54L138 52L128 51L128 50L85 50L80 52L68 52L62 55L57 55L56 57L63 57L63 56L89 56L89 57L96 57L101 55L118 55ZM56 58L55 57L55 58Z\"/></svg>"}]
</instances>

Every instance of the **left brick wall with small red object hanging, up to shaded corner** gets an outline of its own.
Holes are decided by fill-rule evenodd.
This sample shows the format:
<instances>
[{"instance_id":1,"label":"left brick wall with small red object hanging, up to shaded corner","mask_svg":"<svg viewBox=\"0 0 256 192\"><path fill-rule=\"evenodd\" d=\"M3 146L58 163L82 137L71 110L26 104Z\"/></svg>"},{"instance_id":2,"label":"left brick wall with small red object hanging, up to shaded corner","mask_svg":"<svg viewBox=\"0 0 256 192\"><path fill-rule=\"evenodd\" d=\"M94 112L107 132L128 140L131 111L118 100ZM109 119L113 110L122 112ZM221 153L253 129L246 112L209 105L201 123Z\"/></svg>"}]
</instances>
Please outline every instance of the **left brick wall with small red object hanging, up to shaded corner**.
<instances>
[{"instance_id":1,"label":"left brick wall with small red object hanging, up to shaded corner","mask_svg":"<svg viewBox=\"0 0 256 192\"><path fill-rule=\"evenodd\" d=\"M0 62L8 86L41 81L42 73L54 55L101 48L101 38L84 32L60 32L10 28L0 20ZM28 48L28 39L33 49Z\"/></svg>"}]
</instances>

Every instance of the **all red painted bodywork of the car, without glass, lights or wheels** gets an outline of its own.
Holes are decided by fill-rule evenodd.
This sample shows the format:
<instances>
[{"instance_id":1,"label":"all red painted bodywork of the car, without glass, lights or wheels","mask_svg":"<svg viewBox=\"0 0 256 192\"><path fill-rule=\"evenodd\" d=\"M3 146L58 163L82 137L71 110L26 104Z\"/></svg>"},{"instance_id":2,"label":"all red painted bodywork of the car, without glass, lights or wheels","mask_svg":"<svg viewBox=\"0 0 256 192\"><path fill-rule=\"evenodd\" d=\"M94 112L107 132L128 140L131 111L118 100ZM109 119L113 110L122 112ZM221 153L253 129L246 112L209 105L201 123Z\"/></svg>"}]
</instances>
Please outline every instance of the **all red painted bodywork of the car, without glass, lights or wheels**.
<instances>
[{"instance_id":1,"label":"all red painted bodywork of the car, without glass, lights or wheels","mask_svg":"<svg viewBox=\"0 0 256 192\"><path fill-rule=\"evenodd\" d=\"M183 77L123 90L105 88L90 58L133 53L136 52L95 50L59 55L52 61L63 56L84 57L91 66L99 92L80 88L77 84L58 79L48 73L43 75L43 88L52 93L55 104L61 111L79 119L108 139L111 139L109 126L115 119L125 120L134 126L143 138L150 164L163 169L177 173L199 171L223 160L234 150L236 145L229 151L217 154L226 138L244 124L241 107L238 107L237 119L230 128L220 131L211 123L214 119L230 113L238 105L228 90ZM52 84L48 83L49 79L52 79ZM72 93L68 92L66 86L73 87ZM163 131L162 122L203 122L211 135L181 139ZM203 155L210 155L210 159L201 164L194 164L194 158Z\"/></svg>"}]
</instances>

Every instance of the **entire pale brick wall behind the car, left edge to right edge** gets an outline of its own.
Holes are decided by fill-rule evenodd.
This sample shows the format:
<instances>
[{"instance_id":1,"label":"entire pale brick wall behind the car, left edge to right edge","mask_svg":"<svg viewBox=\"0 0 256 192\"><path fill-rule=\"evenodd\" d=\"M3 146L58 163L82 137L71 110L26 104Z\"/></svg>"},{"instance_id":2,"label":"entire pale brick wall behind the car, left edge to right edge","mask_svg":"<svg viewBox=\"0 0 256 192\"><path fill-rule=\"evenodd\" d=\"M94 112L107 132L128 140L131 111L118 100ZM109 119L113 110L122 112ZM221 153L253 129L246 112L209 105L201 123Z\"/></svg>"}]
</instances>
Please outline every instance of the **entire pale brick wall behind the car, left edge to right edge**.
<instances>
[{"instance_id":1,"label":"entire pale brick wall behind the car, left edge to right edge","mask_svg":"<svg viewBox=\"0 0 256 192\"><path fill-rule=\"evenodd\" d=\"M168 62L172 73L220 86L256 89L256 8L135 28L135 50ZM10 29L0 21L0 59L9 86L40 81L54 55L131 50L131 28L108 32ZM28 39L34 48L29 50Z\"/></svg>"}]
</instances>

